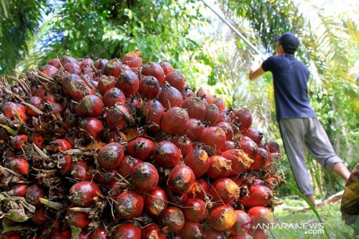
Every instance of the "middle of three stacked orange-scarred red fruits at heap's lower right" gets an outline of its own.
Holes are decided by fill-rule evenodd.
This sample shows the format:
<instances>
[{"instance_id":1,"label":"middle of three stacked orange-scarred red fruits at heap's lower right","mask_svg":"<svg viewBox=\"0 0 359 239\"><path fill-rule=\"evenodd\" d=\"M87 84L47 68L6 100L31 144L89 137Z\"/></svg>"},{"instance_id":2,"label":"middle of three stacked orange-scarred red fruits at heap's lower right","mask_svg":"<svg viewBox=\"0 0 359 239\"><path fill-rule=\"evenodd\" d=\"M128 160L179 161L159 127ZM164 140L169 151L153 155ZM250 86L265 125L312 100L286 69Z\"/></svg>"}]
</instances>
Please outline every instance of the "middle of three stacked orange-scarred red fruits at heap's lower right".
<instances>
[{"instance_id":1,"label":"middle of three stacked orange-scarred red fruits at heap's lower right","mask_svg":"<svg viewBox=\"0 0 359 239\"><path fill-rule=\"evenodd\" d=\"M238 199L239 187L229 178L219 178L210 186L209 194L213 197L214 201L227 204Z\"/></svg>"}]
</instances>

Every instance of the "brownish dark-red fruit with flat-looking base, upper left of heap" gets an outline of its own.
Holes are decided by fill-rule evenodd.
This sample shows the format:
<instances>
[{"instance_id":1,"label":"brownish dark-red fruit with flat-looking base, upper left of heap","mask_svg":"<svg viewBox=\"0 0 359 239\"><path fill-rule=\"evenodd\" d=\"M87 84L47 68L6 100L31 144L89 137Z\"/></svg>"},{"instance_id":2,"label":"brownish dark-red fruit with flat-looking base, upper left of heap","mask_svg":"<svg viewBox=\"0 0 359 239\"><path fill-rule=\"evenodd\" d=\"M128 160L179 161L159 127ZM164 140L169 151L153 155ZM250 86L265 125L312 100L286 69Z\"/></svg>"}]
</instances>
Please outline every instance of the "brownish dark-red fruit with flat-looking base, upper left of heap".
<instances>
[{"instance_id":1,"label":"brownish dark-red fruit with flat-looking base, upper left of heap","mask_svg":"<svg viewBox=\"0 0 359 239\"><path fill-rule=\"evenodd\" d=\"M96 95L87 95L76 105L75 115L80 117L98 117L103 114L103 102Z\"/></svg>"}]
</instances>

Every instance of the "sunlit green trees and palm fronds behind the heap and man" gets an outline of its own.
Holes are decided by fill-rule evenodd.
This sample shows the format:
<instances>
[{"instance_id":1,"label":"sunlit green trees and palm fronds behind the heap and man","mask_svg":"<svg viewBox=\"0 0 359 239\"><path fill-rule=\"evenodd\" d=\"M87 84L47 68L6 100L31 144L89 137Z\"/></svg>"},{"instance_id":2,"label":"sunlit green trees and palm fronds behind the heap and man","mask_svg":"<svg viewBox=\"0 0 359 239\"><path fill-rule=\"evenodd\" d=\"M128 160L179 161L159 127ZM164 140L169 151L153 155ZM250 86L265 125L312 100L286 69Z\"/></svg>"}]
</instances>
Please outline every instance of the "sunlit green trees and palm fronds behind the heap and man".
<instances>
[{"instance_id":1,"label":"sunlit green trees and palm fronds behind the heap and man","mask_svg":"<svg viewBox=\"0 0 359 239\"><path fill-rule=\"evenodd\" d=\"M209 1L211 4L214 1ZM314 2L314 1L313 1ZM281 143L272 77L249 82L250 49L196 0L0 0L0 73L48 59L122 58L133 49L145 61L166 59L193 87L205 86L234 107L247 106L266 140ZM359 30L355 1L219 0L216 9L270 56L274 35L296 33L296 57L310 69L309 96L332 144L351 170L359 158ZM322 5L318 5L322 3ZM356 12L355 12L356 11ZM317 197L343 182L308 154ZM288 161L280 169L294 184ZM279 196L292 195L282 187Z\"/></svg>"}]
</instances>

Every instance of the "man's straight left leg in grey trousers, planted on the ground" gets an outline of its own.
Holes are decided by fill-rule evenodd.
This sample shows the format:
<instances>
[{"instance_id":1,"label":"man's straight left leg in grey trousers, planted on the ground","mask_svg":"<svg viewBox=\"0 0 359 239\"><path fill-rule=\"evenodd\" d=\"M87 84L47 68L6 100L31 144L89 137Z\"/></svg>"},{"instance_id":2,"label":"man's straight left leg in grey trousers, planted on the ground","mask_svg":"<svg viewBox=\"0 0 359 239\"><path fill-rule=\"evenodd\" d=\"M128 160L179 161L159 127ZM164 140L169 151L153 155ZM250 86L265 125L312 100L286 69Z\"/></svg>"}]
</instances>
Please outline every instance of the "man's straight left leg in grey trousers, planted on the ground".
<instances>
[{"instance_id":1,"label":"man's straight left leg in grey trousers, planted on the ground","mask_svg":"<svg viewBox=\"0 0 359 239\"><path fill-rule=\"evenodd\" d=\"M279 129L299 191L315 205L314 192L305 160L305 129L303 119L279 119Z\"/></svg>"}]
</instances>

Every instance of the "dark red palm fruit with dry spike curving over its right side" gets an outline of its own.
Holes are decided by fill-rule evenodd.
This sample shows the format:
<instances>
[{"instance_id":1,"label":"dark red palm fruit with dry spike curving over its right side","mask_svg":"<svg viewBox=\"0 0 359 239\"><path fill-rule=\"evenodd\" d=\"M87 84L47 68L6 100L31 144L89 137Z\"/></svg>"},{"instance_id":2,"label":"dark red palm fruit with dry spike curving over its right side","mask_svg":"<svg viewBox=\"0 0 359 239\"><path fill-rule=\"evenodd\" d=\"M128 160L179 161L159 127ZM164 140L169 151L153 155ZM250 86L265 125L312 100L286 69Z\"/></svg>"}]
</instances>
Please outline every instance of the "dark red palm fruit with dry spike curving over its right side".
<instances>
[{"instance_id":1,"label":"dark red palm fruit with dry spike curving over its right side","mask_svg":"<svg viewBox=\"0 0 359 239\"><path fill-rule=\"evenodd\" d=\"M106 112L106 123L109 129L118 130L126 125L126 117L130 117L130 113L123 105L115 105Z\"/></svg>"}]
</instances>

